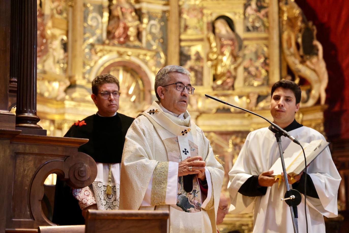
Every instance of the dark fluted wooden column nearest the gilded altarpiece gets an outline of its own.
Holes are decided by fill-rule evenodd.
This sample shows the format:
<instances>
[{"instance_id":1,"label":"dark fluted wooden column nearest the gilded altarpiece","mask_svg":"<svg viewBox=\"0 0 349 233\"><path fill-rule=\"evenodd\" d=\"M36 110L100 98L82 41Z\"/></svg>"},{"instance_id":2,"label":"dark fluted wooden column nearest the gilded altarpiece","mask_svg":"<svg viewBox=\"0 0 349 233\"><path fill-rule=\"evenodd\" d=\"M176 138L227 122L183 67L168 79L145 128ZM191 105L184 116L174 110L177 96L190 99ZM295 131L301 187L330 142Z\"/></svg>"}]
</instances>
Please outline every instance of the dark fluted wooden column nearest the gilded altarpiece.
<instances>
[{"instance_id":1,"label":"dark fluted wooden column nearest the gilded altarpiece","mask_svg":"<svg viewBox=\"0 0 349 233\"><path fill-rule=\"evenodd\" d=\"M36 115L36 66L37 66L37 1L13 0L11 19L18 30L18 70L16 127L42 129ZM16 38L14 38L16 39ZM16 42L14 42L16 43ZM16 61L13 61L16 64ZM17 71L12 71L15 74Z\"/></svg>"}]
</instances>

